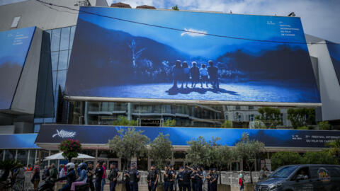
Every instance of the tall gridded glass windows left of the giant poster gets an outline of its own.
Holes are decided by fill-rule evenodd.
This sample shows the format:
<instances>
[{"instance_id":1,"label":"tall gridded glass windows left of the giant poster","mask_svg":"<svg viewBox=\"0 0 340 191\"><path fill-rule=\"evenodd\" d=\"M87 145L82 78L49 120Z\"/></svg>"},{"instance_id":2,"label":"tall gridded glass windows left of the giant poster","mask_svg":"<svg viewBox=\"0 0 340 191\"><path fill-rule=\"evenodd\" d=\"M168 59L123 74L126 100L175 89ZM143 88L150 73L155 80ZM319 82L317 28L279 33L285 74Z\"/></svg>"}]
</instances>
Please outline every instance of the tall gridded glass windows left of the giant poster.
<instances>
[{"instance_id":1,"label":"tall gridded glass windows left of the giant poster","mask_svg":"<svg viewBox=\"0 0 340 191\"><path fill-rule=\"evenodd\" d=\"M47 33L50 34L51 40L52 81L53 96L55 102L55 114L57 113L59 90L64 91L75 29L76 26L69 26L65 28L45 30ZM55 117L35 118L34 132L39 132L40 124L53 123L55 122L55 120Z\"/></svg>"}]
</instances>

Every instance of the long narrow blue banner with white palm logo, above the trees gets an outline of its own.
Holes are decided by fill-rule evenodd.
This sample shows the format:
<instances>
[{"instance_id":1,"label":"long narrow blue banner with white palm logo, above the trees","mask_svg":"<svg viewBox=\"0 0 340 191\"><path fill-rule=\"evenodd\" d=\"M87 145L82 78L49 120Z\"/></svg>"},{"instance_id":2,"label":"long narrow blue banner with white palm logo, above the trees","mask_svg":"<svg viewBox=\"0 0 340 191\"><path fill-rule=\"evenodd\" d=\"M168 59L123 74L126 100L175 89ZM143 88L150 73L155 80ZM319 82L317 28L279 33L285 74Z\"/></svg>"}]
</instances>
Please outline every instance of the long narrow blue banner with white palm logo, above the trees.
<instances>
[{"instance_id":1,"label":"long narrow blue banner with white palm logo, above the trees","mask_svg":"<svg viewBox=\"0 0 340 191\"><path fill-rule=\"evenodd\" d=\"M107 144L109 139L118 135L118 130L124 131L129 127L104 125L42 125L36 144L59 144L64 139L78 139L82 144ZM131 128L131 127L130 127ZM338 131L310 131L310 130L278 130L278 129L221 129L221 128L191 128L191 127L135 127L142 131L151 141L159 133L169 134L173 145L186 146L187 141L205 137L209 141L212 137L220 137L219 144L234 146L242 137L249 134L250 139L261 141L265 146L275 147L326 147L326 143L340 139Z\"/></svg>"}]
</instances>

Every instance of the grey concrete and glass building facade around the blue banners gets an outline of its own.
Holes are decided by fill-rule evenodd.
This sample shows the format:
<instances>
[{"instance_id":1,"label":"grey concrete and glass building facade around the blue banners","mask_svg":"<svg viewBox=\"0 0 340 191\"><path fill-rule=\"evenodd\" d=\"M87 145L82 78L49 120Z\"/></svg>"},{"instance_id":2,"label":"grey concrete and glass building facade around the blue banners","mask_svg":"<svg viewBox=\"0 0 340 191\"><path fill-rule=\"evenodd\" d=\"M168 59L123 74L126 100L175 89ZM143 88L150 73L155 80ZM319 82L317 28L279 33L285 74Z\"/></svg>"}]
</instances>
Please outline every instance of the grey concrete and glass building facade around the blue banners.
<instances>
[{"instance_id":1,"label":"grey concrete and glass building facade around the blue banners","mask_svg":"<svg viewBox=\"0 0 340 191\"><path fill-rule=\"evenodd\" d=\"M58 1L58 5L71 8L69 9L52 5L57 4L54 1L45 2L47 4L39 1L23 1L0 6L1 32L36 27L33 41L28 51L28 55L33 54L31 57L35 59L26 59L23 71L27 70L28 72L21 75L18 80L18 84L23 84L21 85L22 87L16 87L11 107L6 110L0 110L0 137L3 138L0 146L0 160L16 159L24 164L32 164L38 158L57 153L57 142L55 140L50 138L51 141L46 142L46 140L41 139L40 129L45 129L44 133L47 134L49 125L46 124L54 124L55 126L52 127L69 128L69 130L72 130L72 126L68 125L84 128L88 125L98 125L98 129L101 129L103 128L102 126L111 127L115 125L115 122L120 117L126 117L128 120L135 120L137 127L162 128L168 126L169 122L173 122L174 124L171 126L174 127L195 127L192 130L199 134L199 127L205 127L203 128L205 130L208 127L221 128L225 127L226 121L237 129L258 128L255 122L256 116L259 115L258 109L263 106L271 106L280 110L278 129L290 129L292 125L288 120L288 109L301 107L315 108L317 121L327 120L333 129L339 127L340 112L337 111L340 108L340 86L333 66L334 61L331 60L327 45L317 44L327 41L310 35L306 35L306 40L310 43L308 50L312 60L314 77L317 80L322 103L322 105L319 105L321 106L300 103L220 103L213 101L136 100L129 98L123 100L91 97L69 98L69 95L65 94L65 83L73 51L74 37L77 34L75 31L77 30L77 18L79 16L79 11L77 10L79 10L79 5L107 6L107 4L106 1L99 0ZM48 4L48 2L52 4ZM28 66L33 65L35 65L35 69L29 70ZM35 70L35 72L32 72L32 70ZM80 68L79 73L81 73ZM28 81L29 83L27 83ZM23 88L26 86L34 91L28 91L27 88ZM22 108L26 110L20 110ZM115 127L112 126L112 128ZM169 130L170 133L174 133L174 131L176 130ZM211 130L211 132L214 131ZM314 132L314 136L317 136L317 134L320 134L320 132ZM329 134L336 137L338 132L330 132ZM218 135L217 132L215 136ZM189 141L192 138L186 137L183 139ZM84 138L80 137L79 139ZM230 139L232 138L230 137ZM264 139L263 141L266 141ZM16 140L17 143L13 144L8 140ZM58 141L60 140L58 139ZM107 142L107 140L97 143L93 141L87 143L86 141L89 141L89 139L84 139L84 153L96 156L95 161L102 160L108 161L108 163L118 162L120 164L120 159L103 143L103 141ZM187 148L188 146L186 145L176 145L169 163L183 164ZM267 152L263 153L263 158L259 159L270 158L271 153L280 150L305 152L321 148L322 146L303 147L285 146L284 144L282 146L268 146ZM151 161L150 158L145 157L140 158L139 163L142 168L146 169ZM44 163L52 162L45 161ZM239 161L235 161L231 166L233 170L243 168Z\"/></svg>"}]
</instances>

